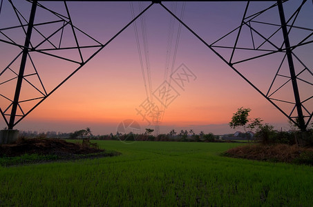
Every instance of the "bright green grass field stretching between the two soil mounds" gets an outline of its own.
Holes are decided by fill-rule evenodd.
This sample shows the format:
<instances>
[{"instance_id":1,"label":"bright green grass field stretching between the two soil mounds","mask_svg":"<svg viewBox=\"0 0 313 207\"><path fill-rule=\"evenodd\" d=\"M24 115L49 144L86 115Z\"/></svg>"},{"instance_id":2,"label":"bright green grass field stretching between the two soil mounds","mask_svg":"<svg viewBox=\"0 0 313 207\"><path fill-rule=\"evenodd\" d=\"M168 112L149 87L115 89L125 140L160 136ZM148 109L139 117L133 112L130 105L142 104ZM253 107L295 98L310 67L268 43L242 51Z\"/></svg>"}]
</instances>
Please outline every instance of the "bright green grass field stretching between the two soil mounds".
<instances>
[{"instance_id":1,"label":"bright green grass field stretching between the two soil mounds","mask_svg":"<svg viewBox=\"0 0 313 207\"><path fill-rule=\"evenodd\" d=\"M97 143L122 155L0 167L0 206L312 206L312 167L219 156L240 144Z\"/></svg>"}]
</instances>

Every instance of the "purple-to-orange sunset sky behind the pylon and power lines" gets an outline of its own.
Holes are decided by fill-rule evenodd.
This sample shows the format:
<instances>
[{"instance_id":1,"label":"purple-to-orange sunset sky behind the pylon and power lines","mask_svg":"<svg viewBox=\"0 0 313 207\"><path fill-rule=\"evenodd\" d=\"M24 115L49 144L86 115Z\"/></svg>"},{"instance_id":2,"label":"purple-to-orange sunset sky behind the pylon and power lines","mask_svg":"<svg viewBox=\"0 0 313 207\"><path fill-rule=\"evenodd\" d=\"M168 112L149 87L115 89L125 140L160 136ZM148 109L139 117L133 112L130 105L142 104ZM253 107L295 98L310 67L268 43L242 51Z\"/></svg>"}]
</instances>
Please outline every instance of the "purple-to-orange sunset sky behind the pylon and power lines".
<instances>
[{"instance_id":1,"label":"purple-to-orange sunset sky behind the pylon and power lines","mask_svg":"<svg viewBox=\"0 0 313 207\"><path fill-rule=\"evenodd\" d=\"M21 13L29 18L31 4L24 1L13 1L15 6ZM64 3L62 2L41 2L47 8L51 8L60 14L66 14ZM301 1L288 1L284 3L286 19L298 8ZM164 2L171 11L183 18L183 21L207 43L213 43L223 35L227 34L234 28L240 26L243 12L245 10L245 2ZM247 14L254 14L271 6L272 2L255 2L250 3ZM73 24L80 30L101 43L106 43L114 34L121 30L133 18L134 14L139 14L140 8L146 8L149 2L133 4L129 2L68 2L68 9ZM182 13L182 10L184 11ZM55 21L56 17L49 14L46 10L37 9L35 23L45 21ZM155 92L162 86L164 81L170 81L171 68L175 76L176 69L182 64L183 67L189 69L189 75L194 75L189 83L185 82L184 88L180 88L178 83L171 81L171 87L176 90L178 96L168 104L164 109L160 101L154 98L155 106L164 110L164 117L160 124L160 132L169 132L172 128L176 130L191 129L196 132L204 130L205 132L214 132L214 134L225 134L234 132L229 128L227 123L231 121L231 116L236 112L237 108L251 108L251 117L260 117L265 123L274 124L277 128L283 127L287 129L287 118L279 112L269 101L262 97L254 88L243 80L234 72L225 62L217 57L204 43L199 41L184 26L179 28L178 21L172 19L171 15L155 4L144 15L146 32L146 46L149 54L150 66L150 83L151 92ZM313 5L312 1L307 1L303 6L300 14L295 21L295 26L313 28ZM167 68L167 48L169 41L170 22L173 21L173 39L171 42L171 53L169 54L169 72L164 78L164 71ZM268 23L280 23L277 8L269 10L260 16L258 21L266 21ZM135 21L140 41L140 49L144 64L144 74L146 84L149 83L147 76L149 71L146 70L146 56L144 55L144 37L142 36L142 21ZM38 26L44 35L52 34L63 23L54 23L48 26ZM10 26L18 26L19 21L12 10L12 6L8 1L3 0L3 6L0 13L0 28ZM269 37L275 26L255 25L258 30L262 31L265 37ZM180 30L178 39L178 30ZM64 29L64 39L62 39L62 47L75 46L75 41L71 35L70 26ZM17 43L23 45L24 34L21 28L3 31ZM6 39L0 33L0 39ZM234 40L238 32L229 35L218 44L220 46L234 46ZM292 30L290 32L291 44L294 45L301 41L312 30ZM59 43L59 35L56 34L50 40ZM243 28L243 35L238 40L238 47L251 47L252 40L250 30ZM255 41L261 43L260 38L254 34ZM77 38L81 46L95 45L95 41L86 37L86 35L77 32ZM282 33L277 32L272 38L278 45L283 42ZM307 41L312 41L310 37ZM42 41L42 37L35 31L32 34L32 43L36 45ZM178 42L176 61L173 62L173 54ZM48 43L44 43L42 48L51 47ZM265 49L270 46L265 44ZM267 48L266 48L267 47ZM0 71L8 66L19 52L20 48L10 46L0 42ZM229 59L231 50L216 49L222 57ZM50 52L53 55L60 55L68 59L80 61L77 50L61 50ZM93 49L84 49L82 54L84 60L95 52ZM230 53L229 53L230 52ZM233 62L240 61L252 57L253 55L263 53L252 52L236 52ZM305 66L312 71L312 43L297 48L294 53L303 61ZM67 77L73 70L79 67L77 63L70 63L55 57L47 56L37 52L30 52L30 57L34 61L39 76L44 83L47 92L50 92ZM234 65L243 73L252 83L254 83L265 94L276 74L283 53L266 56L260 59L238 63ZM18 60L21 59L20 57ZM303 70L303 65L294 60L296 72ZM19 61L10 66L14 71L19 70ZM173 67L172 67L173 66ZM32 74L33 67L30 59L28 59L25 74ZM287 62L284 61L281 74L289 75ZM6 71L0 76L0 83L14 77L10 71ZM305 71L299 77L310 83L313 82L310 72ZM39 90L43 91L36 76L28 77ZM279 87L286 79L277 79L271 92ZM6 97L13 99L16 80L0 85L0 93ZM149 86L147 86L149 89ZM276 87L276 88L275 88ZM304 82L299 83L301 90L301 99L307 99L312 96L312 84ZM20 100L32 99L41 96L37 90L34 90L26 81L23 82ZM142 121L142 117L137 114L137 109L146 100L146 90L144 86L144 78L142 68L140 66L140 55L137 50L137 42L135 36L134 24L126 28L116 39L100 51L91 61L71 77L63 86L41 103L35 110L23 119L15 128L19 130L37 130L37 131L61 131L73 132L82 128L90 127L95 135L108 134L116 132L117 125L125 119L134 119L140 123L142 129L154 128L153 124L147 126L147 121ZM277 99L285 99L294 101L292 94L292 85L288 83L284 86ZM28 111L38 101L30 101L23 103L22 108ZM9 101L0 97L0 107L7 108ZM281 104L281 103L279 103ZM284 110L289 113L291 111L288 104L281 104ZM307 101L308 110L313 109L313 100ZM10 112L7 112L10 113ZM151 118L149 118L151 119ZM151 121L151 120L150 120ZM6 122L1 119L0 128L6 127ZM144 130L143 130L144 131Z\"/></svg>"}]
</instances>

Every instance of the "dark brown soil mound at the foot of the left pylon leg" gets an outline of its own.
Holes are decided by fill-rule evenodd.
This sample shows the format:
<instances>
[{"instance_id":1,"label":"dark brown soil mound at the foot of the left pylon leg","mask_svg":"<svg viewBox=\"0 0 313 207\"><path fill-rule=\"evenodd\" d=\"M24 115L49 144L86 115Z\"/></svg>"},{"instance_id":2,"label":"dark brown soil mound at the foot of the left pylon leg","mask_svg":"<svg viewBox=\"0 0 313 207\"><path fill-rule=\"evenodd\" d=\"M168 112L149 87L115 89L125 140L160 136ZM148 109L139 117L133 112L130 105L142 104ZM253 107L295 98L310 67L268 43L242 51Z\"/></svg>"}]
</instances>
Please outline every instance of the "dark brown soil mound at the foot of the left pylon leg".
<instances>
[{"instance_id":1,"label":"dark brown soil mound at the foot of the left pylon leg","mask_svg":"<svg viewBox=\"0 0 313 207\"><path fill-rule=\"evenodd\" d=\"M62 139L19 139L16 144L0 146L0 157L16 157L24 154L38 155L86 155L104 152L84 139L82 144L75 144Z\"/></svg>"}]
</instances>

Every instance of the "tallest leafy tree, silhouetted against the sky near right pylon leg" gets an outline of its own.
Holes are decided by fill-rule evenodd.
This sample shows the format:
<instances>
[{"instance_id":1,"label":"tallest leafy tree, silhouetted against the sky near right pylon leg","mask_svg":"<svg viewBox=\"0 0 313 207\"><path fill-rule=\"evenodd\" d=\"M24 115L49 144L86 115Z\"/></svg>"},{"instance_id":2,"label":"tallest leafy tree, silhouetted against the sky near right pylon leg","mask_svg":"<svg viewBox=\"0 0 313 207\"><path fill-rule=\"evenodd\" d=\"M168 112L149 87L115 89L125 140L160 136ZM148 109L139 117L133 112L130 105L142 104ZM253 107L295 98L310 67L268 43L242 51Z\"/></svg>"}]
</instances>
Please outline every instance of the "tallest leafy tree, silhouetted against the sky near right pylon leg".
<instances>
[{"instance_id":1,"label":"tallest leafy tree, silhouetted against the sky near right pylon leg","mask_svg":"<svg viewBox=\"0 0 313 207\"><path fill-rule=\"evenodd\" d=\"M247 128L250 130L253 130L256 127L262 126L261 122L263 121L260 118L255 118L253 121L249 118L249 112L251 111L250 108L238 108L237 112L233 114L233 117L231 117L231 121L229 122L229 126L231 128L239 128L243 127L243 130L245 130L245 134L247 135L248 142L250 140L250 135L247 132ZM250 124L249 121L251 121Z\"/></svg>"}]
</instances>

